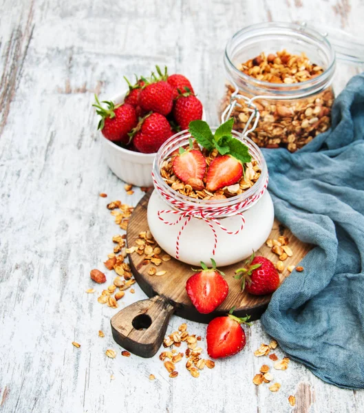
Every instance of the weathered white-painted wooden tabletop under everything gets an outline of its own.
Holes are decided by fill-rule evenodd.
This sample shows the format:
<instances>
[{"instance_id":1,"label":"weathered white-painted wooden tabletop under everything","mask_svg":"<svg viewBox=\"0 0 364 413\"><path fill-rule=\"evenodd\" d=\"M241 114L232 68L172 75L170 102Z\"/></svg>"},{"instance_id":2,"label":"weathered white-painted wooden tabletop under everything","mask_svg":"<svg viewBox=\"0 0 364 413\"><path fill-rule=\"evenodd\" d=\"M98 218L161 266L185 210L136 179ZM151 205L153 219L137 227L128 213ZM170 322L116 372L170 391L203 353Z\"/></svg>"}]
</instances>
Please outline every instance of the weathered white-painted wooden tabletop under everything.
<instances>
[{"instance_id":1,"label":"weathered white-painted wooden tabletop under everything","mask_svg":"<svg viewBox=\"0 0 364 413\"><path fill-rule=\"evenodd\" d=\"M118 233L107 200L135 205L142 195L127 196L101 156L94 92L112 96L125 89L122 74L166 64L191 78L215 123L223 48L236 30L306 20L363 39L363 13L361 0L1 1L1 413L363 412L364 392L327 385L295 362L274 372L279 392L256 388L263 361L253 350L269 339L259 322L236 357L198 379L181 364L169 379L158 357L121 357L109 328L117 310L85 294L89 270L103 268ZM339 66L336 90L357 72ZM145 297L135 290L120 306ZM182 321L172 317L167 332ZM189 322L189 330L205 336L203 324Z\"/></svg>"}]
</instances>

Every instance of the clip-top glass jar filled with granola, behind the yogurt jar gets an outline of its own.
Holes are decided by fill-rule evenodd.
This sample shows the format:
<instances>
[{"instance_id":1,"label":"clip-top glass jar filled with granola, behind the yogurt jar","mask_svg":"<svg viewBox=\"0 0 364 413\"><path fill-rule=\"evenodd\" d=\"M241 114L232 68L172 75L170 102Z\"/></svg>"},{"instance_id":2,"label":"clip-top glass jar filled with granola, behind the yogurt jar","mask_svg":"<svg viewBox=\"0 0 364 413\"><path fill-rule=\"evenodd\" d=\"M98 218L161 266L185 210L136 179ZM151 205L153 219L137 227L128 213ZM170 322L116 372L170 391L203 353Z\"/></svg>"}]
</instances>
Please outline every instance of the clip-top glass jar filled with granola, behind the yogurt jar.
<instances>
[{"instance_id":1,"label":"clip-top glass jar filled with granola, behind the yogurt jar","mask_svg":"<svg viewBox=\"0 0 364 413\"><path fill-rule=\"evenodd\" d=\"M250 25L228 41L224 66L220 114L235 91L253 98L260 118L249 137L259 147L294 152L330 127L335 54L316 30L295 23ZM250 113L246 101L237 100L234 129L244 131Z\"/></svg>"}]
</instances>

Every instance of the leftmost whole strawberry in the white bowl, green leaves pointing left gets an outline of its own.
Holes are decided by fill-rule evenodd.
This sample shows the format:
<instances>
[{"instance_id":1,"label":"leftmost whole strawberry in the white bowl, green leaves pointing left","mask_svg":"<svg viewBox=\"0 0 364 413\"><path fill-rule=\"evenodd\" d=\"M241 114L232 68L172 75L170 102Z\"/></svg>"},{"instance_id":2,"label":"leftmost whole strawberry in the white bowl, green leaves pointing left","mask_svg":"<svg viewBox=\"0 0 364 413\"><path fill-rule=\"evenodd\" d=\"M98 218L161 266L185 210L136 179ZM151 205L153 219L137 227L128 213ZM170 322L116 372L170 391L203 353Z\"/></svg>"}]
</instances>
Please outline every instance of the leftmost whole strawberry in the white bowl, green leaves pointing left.
<instances>
[{"instance_id":1,"label":"leftmost whole strawberry in the white bowl, green leaves pointing left","mask_svg":"<svg viewBox=\"0 0 364 413\"><path fill-rule=\"evenodd\" d=\"M96 107L96 113L101 116L98 129L101 130L105 138L127 145L129 142L128 133L138 123L134 107L127 103L115 105L113 102L103 100L103 103L107 105L107 109L105 109L101 106L96 95L95 99L96 103L92 106Z\"/></svg>"}]
</instances>

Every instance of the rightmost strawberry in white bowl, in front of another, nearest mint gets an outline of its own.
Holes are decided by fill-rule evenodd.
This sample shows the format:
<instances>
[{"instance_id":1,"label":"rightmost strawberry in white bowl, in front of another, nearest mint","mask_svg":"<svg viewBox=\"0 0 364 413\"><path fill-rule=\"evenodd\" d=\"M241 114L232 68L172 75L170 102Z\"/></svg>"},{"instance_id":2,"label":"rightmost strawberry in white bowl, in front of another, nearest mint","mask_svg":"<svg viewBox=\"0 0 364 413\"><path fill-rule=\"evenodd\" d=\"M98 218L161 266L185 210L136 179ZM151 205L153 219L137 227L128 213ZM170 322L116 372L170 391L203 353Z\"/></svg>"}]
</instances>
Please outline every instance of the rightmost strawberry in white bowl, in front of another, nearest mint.
<instances>
[{"instance_id":1,"label":"rightmost strawberry in white bowl, in front of another, nearest mint","mask_svg":"<svg viewBox=\"0 0 364 413\"><path fill-rule=\"evenodd\" d=\"M173 106L173 116L182 131L189 129L191 120L202 119L202 103L190 92L180 94Z\"/></svg>"}]
</instances>

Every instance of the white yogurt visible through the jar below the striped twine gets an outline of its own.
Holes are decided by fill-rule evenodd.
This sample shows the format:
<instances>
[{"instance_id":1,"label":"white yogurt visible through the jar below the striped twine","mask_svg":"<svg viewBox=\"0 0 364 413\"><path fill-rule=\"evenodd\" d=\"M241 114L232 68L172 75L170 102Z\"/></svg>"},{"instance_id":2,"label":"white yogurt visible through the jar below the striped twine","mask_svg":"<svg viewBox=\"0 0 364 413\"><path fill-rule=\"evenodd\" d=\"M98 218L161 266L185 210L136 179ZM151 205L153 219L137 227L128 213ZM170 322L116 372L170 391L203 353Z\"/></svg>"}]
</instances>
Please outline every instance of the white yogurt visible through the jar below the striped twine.
<instances>
[{"instance_id":1,"label":"white yogurt visible through the jar below the striped twine","mask_svg":"<svg viewBox=\"0 0 364 413\"><path fill-rule=\"evenodd\" d=\"M158 218L158 211L166 209L171 209L171 207L162 200L155 189L148 204L149 229L164 251L175 257L178 233L185 219L176 225L164 224ZM244 212L244 229L236 235L226 233L215 222L211 222L217 233L215 255L213 255L215 237L210 226L201 219L191 218L180 236L179 260L195 266L200 266L201 261L210 265L211 258L216 261L217 266L244 260L266 242L272 230L274 215L272 198L266 191L257 204ZM179 215L169 214L163 217L174 222ZM241 218L237 215L223 218L220 222L228 230L239 228L242 224Z\"/></svg>"}]
</instances>

